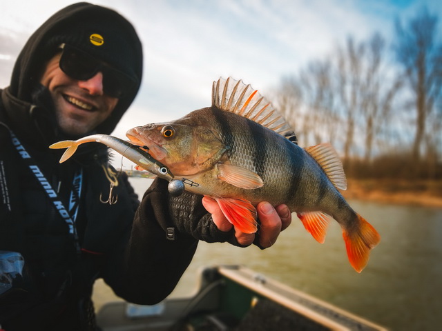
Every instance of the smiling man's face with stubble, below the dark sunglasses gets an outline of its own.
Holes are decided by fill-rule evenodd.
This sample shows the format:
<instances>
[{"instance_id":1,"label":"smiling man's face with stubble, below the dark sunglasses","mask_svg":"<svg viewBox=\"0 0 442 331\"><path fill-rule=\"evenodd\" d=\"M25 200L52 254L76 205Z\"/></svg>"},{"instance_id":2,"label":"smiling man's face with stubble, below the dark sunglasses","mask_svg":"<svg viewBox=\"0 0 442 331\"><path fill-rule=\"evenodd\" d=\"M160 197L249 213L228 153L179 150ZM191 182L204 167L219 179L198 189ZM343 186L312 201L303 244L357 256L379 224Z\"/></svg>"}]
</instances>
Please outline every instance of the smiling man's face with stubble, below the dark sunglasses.
<instances>
[{"instance_id":1,"label":"smiling man's face with stubble, below the dark sunglasses","mask_svg":"<svg viewBox=\"0 0 442 331\"><path fill-rule=\"evenodd\" d=\"M109 117L118 98L104 94L102 72L86 81L72 79L59 68L60 57L61 53L50 59L40 83L52 96L61 130L75 136L84 135Z\"/></svg>"}]
</instances>

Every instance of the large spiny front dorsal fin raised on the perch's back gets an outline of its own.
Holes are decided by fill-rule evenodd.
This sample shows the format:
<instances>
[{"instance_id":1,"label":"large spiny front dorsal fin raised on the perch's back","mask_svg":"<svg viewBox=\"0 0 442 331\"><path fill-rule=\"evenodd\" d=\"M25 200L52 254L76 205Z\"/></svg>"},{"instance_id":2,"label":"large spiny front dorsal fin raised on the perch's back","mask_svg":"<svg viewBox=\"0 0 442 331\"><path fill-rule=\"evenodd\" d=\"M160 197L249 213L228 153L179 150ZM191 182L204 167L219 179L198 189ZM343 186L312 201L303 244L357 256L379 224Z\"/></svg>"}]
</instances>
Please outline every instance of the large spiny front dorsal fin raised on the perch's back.
<instances>
[{"instance_id":1,"label":"large spiny front dorsal fin raised on the perch's back","mask_svg":"<svg viewBox=\"0 0 442 331\"><path fill-rule=\"evenodd\" d=\"M298 143L295 132L271 103L242 80L220 78L213 82L212 106L233 112L273 130L293 143Z\"/></svg>"}]
</instances>

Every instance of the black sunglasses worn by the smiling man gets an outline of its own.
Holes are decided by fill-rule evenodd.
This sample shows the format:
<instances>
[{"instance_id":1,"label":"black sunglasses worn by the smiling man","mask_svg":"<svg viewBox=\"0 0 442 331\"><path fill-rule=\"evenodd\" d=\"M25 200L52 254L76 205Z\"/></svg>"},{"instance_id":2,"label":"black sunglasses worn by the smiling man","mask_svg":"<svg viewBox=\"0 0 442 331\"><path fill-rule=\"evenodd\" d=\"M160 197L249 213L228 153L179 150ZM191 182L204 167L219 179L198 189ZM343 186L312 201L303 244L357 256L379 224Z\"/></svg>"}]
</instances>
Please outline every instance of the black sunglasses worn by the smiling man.
<instances>
[{"instance_id":1,"label":"black sunglasses worn by the smiling man","mask_svg":"<svg viewBox=\"0 0 442 331\"><path fill-rule=\"evenodd\" d=\"M86 52L65 43L61 44L60 48L63 52L59 66L70 78L87 81L97 72L102 72L104 93L115 98L120 98L135 88L135 80L124 72L111 68Z\"/></svg>"}]
</instances>

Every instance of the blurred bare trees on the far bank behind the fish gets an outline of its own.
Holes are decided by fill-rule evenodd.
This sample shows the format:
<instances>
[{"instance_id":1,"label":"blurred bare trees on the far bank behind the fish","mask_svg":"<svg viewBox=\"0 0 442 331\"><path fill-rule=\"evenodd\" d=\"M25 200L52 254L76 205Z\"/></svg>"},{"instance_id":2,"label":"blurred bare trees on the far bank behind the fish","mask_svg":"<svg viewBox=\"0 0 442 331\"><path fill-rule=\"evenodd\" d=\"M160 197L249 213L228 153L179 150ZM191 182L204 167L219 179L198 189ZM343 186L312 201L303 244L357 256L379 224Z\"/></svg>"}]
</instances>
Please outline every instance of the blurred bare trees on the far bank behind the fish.
<instances>
[{"instance_id":1,"label":"blurred bare trees on the far bank behind the fish","mask_svg":"<svg viewBox=\"0 0 442 331\"><path fill-rule=\"evenodd\" d=\"M381 33L348 37L283 77L276 106L301 146L332 143L356 177L442 178L442 43L423 8Z\"/></svg>"}]
</instances>

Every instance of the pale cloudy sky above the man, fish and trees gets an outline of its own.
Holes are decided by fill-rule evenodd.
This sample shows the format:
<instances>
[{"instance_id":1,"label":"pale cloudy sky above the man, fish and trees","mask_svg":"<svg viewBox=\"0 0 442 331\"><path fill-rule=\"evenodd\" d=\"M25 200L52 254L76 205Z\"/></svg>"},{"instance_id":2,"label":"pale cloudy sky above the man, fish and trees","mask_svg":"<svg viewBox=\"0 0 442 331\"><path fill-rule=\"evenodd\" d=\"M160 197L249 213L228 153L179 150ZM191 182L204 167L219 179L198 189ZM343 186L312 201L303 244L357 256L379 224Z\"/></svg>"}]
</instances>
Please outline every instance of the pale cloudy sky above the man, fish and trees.
<instances>
[{"instance_id":1,"label":"pale cloudy sky above the man, fish and trees","mask_svg":"<svg viewBox=\"0 0 442 331\"><path fill-rule=\"evenodd\" d=\"M57 10L77 1L0 0L0 88L9 85L21 47ZM436 0L97 0L123 14L140 35L144 77L135 102L113 135L170 121L211 105L211 85L233 77L275 89L282 77L327 56L348 36L379 31L392 38L394 19Z\"/></svg>"}]
</instances>

